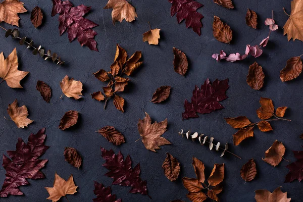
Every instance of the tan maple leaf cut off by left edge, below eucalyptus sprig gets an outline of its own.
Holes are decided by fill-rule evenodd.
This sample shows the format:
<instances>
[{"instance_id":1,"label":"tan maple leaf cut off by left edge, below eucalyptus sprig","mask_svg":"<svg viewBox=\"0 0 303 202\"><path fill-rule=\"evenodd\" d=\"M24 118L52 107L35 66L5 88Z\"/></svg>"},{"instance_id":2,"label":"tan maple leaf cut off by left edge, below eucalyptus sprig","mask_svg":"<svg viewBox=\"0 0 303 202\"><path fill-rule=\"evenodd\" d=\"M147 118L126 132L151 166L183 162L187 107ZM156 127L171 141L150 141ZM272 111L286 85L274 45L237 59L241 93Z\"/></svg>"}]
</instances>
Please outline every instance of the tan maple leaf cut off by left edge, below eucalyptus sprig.
<instances>
[{"instance_id":1,"label":"tan maple leaf cut off by left edge, below eucalyptus sprig","mask_svg":"<svg viewBox=\"0 0 303 202\"><path fill-rule=\"evenodd\" d=\"M14 48L13 52L5 60L4 60L3 52L0 54L0 78L3 79L1 82L5 80L8 86L10 86L11 88L23 88L20 85L20 81L28 73L29 72L18 70L18 57L17 57L16 48Z\"/></svg>"}]
</instances>

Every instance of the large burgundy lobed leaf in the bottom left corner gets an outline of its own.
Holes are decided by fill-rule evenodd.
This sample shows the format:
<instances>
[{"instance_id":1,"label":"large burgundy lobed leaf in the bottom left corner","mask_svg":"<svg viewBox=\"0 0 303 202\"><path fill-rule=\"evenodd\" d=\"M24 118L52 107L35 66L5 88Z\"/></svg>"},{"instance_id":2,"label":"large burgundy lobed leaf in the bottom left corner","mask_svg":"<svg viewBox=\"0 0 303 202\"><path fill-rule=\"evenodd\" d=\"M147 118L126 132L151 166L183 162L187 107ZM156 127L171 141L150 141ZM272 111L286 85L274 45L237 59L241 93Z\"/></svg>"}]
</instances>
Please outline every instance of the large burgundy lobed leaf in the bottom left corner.
<instances>
[{"instance_id":1,"label":"large burgundy lobed leaf in the bottom left corner","mask_svg":"<svg viewBox=\"0 0 303 202\"><path fill-rule=\"evenodd\" d=\"M29 184L26 178L33 180L45 178L40 169L48 160L38 159L48 149L48 146L44 145L46 137L44 132L45 128L42 128L37 134L32 133L27 144L19 138L16 151L7 151L11 159L3 155L2 166L6 170L6 178L0 191L1 197L7 197L9 194L23 195L18 187Z\"/></svg>"}]
</instances>

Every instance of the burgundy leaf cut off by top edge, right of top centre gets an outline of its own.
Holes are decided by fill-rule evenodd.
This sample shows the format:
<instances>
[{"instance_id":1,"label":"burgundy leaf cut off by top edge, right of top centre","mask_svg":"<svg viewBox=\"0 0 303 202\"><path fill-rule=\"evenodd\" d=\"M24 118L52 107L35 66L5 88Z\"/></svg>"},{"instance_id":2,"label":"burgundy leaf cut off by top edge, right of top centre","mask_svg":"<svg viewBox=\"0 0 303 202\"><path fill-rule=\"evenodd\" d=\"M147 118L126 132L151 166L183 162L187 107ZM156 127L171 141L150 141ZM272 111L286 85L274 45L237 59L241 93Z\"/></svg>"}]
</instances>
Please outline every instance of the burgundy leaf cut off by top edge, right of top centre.
<instances>
[{"instance_id":1,"label":"burgundy leaf cut off by top edge, right of top centre","mask_svg":"<svg viewBox=\"0 0 303 202\"><path fill-rule=\"evenodd\" d=\"M191 27L192 30L201 35L201 19L203 15L196 12L198 8L203 7L202 4L195 2L194 0L168 0L171 4L171 16L174 16L177 13L177 20L180 23L185 19L186 27Z\"/></svg>"}]
</instances>

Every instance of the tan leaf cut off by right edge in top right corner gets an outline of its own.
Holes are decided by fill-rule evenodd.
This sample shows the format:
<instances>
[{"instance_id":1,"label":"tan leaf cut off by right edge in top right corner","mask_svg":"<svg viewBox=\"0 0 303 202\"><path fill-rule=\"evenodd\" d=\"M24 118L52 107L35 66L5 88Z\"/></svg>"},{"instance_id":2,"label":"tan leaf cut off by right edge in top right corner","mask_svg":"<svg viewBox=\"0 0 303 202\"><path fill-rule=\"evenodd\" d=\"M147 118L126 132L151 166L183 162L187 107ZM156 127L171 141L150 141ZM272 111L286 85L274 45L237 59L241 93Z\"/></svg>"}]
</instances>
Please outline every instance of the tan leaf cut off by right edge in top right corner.
<instances>
[{"instance_id":1,"label":"tan leaf cut off by right edge in top right corner","mask_svg":"<svg viewBox=\"0 0 303 202\"><path fill-rule=\"evenodd\" d=\"M291 38L292 40L298 39L300 41L303 41L303 35L302 35L303 26L301 24L301 22L303 21L302 3L303 3L302 0L293 0L290 2L291 13L289 19L286 21L283 27L284 35L287 34L288 41Z\"/></svg>"}]
</instances>

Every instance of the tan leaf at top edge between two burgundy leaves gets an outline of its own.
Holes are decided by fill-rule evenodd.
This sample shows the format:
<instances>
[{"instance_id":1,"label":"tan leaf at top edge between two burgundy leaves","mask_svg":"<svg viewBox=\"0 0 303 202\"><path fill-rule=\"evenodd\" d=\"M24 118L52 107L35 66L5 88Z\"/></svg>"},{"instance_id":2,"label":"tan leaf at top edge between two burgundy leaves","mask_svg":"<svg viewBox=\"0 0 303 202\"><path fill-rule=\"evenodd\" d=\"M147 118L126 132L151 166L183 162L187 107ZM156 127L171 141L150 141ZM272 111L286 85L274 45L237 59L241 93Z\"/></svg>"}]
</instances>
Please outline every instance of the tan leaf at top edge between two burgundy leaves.
<instances>
[{"instance_id":1,"label":"tan leaf at top edge between two burgundy leaves","mask_svg":"<svg viewBox=\"0 0 303 202\"><path fill-rule=\"evenodd\" d=\"M136 9L126 0L109 0L103 9L113 9L112 19L114 25L117 21L122 22L125 19L126 22L132 22L135 17L138 18Z\"/></svg>"}]
</instances>

